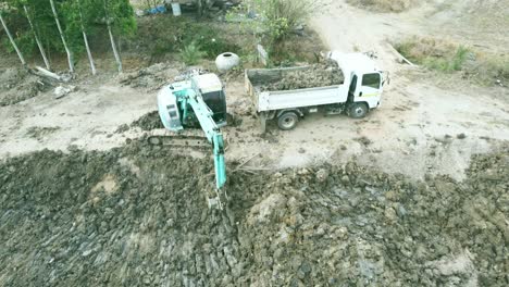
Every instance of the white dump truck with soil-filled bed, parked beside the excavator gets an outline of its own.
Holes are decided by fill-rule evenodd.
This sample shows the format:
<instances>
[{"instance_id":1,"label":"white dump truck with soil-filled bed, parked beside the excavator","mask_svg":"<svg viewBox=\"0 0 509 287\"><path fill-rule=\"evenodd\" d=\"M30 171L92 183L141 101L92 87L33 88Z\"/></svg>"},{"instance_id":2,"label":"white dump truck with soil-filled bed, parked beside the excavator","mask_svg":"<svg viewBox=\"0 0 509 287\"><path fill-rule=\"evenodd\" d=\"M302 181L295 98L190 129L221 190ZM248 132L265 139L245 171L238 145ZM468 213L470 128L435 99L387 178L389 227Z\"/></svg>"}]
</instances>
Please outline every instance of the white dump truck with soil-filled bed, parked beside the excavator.
<instances>
[{"instance_id":1,"label":"white dump truck with soil-filled bed, parked beside the excavator","mask_svg":"<svg viewBox=\"0 0 509 287\"><path fill-rule=\"evenodd\" d=\"M331 82L333 85L311 88L285 89L277 84L271 85L288 74L314 73L315 70L310 66L246 70L246 90L254 103L263 132L268 120L276 120L281 129L288 130L310 113L346 112L351 117L360 118L380 107L388 74L380 71L371 58L363 53L334 51L327 54L327 59L338 66L332 73L343 75Z\"/></svg>"}]
</instances>

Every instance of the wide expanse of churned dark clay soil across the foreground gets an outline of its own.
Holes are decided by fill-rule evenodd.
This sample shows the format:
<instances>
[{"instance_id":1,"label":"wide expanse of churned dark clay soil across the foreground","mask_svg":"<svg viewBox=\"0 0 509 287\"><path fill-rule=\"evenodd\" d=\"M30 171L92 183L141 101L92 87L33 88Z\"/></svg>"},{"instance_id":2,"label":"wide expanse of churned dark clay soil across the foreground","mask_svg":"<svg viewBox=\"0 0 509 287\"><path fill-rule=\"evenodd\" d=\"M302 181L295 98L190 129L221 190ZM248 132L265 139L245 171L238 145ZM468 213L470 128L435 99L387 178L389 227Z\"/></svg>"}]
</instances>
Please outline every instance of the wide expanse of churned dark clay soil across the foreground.
<instances>
[{"instance_id":1,"label":"wide expanse of churned dark clay soil across the foreground","mask_svg":"<svg viewBox=\"0 0 509 287\"><path fill-rule=\"evenodd\" d=\"M206 204L211 170L138 141L4 160L0 286L509 284L509 145L461 183L231 172L224 211Z\"/></svg>"}]
</instances>

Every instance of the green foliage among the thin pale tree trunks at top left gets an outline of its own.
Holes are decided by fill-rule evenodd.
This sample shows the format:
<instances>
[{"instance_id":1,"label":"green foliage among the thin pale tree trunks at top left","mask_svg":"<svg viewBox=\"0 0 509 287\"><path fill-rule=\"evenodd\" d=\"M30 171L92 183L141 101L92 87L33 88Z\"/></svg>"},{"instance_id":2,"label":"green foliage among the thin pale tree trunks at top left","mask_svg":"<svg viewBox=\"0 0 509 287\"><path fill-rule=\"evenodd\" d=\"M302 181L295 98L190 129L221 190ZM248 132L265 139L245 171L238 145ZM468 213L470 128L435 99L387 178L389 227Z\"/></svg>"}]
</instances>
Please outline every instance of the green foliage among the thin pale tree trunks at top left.
<instances>
[{"instance_id":1,"label":"green foliage among the thin pale tree trunks at top left","mask_svg":"<svg viewBox=\"0 0 509 287\"><path fill-rule=\"evenodd\" d=\"M85 51L88 36L104 34L108 29L119 39L136 33L136 20L128 0L3 0L0 8L5 26L15 35L23 54L40 52L45 58L65 51L71 71L72 55ZM111 41L112 47L116 47L114 40ZM5 40L3 45L8 51L14 50L12 42ZM90 54L89 58L91 61Z\"/></svg>"}]
</instances>

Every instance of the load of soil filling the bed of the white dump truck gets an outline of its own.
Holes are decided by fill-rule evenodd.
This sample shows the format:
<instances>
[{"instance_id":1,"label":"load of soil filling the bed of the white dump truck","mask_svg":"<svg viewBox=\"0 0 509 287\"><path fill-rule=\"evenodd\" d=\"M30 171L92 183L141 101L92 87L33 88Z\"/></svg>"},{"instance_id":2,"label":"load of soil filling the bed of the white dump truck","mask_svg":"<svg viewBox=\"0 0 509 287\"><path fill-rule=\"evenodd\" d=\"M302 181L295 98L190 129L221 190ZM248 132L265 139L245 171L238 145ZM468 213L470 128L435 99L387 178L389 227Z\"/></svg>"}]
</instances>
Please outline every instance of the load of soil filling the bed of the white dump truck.
<instances>
[{"instance_id":1,"label":"load of soil filling the bed of the white dump truck","mask_svg":"<svg viewBox=\"0 0 509 287\"><path fill-rule=\"evenodd\" d=\"M275 91L342 85L345 77L337 63L326 59L303 67L254 70L249 79L260 91Z\"/></svg>"}]
</instances>

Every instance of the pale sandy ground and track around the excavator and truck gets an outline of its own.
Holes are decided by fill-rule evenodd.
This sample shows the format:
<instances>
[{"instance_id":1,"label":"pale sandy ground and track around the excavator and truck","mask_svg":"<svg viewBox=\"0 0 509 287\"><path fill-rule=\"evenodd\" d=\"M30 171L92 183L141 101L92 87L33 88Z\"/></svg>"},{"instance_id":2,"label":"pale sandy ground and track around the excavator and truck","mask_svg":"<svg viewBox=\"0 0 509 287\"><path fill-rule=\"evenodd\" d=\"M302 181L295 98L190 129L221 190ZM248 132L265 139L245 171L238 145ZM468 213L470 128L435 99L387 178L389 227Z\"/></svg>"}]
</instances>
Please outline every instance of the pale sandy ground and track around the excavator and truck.
<instances>
[{"instance_id":1,"label":"pale sandy ground and track around the excavator and truck","mask_svg":"<svg viewBox=\"0 0 509 287\"><path fill-rule=\"evenodd\" d=\"M257 120L246 112L250 103L241 78L229 80L229 110L240 116L243 124L225 129L229 140L227 159L241 161L261 154L250 165L273 169L321 162L342 164L355 158L359 163L417 178L426 173L462 178L472 153L487 152L498 140L509 140L509 92L468 84L440 88L443 85L425 77L406 76L419 67L398 63L387 39L424 30L438 33L447 21L439 9L422 4L401 14L374 14L336 1L312 25L331 50L377 53L378 65L392 74L382 107L361 121L313 115L291 132L271 126L269 135L261 138ZM434 16L417 17L420 14ZM443 33L445 37L450 32ZM494 49L504 39L507 37L494 40ZM122 87L116 78L98 77L79 88L60 100L46 93L0 108L0 157L45 148L65 150L70 145L89 150L121 146L142 132L115 130L156 109L156 90Z\"/></svg>"}]
</instances>

